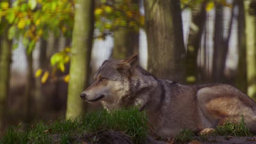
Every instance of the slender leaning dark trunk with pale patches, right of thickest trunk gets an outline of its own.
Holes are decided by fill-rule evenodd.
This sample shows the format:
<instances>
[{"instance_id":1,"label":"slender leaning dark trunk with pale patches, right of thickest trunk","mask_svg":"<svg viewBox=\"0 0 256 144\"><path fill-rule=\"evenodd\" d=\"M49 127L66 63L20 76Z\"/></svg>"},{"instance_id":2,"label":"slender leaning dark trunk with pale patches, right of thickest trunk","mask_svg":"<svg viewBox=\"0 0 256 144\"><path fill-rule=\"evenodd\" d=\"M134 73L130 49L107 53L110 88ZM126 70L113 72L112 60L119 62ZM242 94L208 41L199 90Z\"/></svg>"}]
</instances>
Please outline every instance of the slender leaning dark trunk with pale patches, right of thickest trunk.
<instances>
[{"instance_id":1,"label":"slender leaning dark trunk with pale patches, right of thickest trunk","mask_svg":"<svg viewBox=\"0 0 256 144\"><path fill-rule=\"evenodd\" d=\"M198 12L198 9L200 11ZM201 44L203 31L205 29L206 12L205 3L192 10L192 21L188 36L188 48L186 55L187 83L195 84L197 77L197 54Z\"/></svg>"}]
</instances>

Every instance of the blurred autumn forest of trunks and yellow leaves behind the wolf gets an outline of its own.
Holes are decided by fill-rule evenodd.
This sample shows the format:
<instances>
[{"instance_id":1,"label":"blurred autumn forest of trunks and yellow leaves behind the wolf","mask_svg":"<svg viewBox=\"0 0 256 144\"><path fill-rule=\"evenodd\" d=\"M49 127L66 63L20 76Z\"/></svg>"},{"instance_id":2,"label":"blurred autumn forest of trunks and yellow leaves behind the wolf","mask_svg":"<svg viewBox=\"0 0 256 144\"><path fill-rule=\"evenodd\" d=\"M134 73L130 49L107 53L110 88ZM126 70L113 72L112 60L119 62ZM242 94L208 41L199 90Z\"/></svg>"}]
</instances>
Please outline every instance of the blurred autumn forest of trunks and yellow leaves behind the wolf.
<instances>
[{"instance_id":1,"label":"blurred autumn forest of trunks and yellow leaves behind the wolf","mask_svg":"<svg viewBox=\"0 0 256 144\"><path fill-rule=\"evenodd\" d=\"M80 93L132 54L157 77L256 100L256 1L1 0L0 130L99 108Z\"/></svg>"}]
</instances>

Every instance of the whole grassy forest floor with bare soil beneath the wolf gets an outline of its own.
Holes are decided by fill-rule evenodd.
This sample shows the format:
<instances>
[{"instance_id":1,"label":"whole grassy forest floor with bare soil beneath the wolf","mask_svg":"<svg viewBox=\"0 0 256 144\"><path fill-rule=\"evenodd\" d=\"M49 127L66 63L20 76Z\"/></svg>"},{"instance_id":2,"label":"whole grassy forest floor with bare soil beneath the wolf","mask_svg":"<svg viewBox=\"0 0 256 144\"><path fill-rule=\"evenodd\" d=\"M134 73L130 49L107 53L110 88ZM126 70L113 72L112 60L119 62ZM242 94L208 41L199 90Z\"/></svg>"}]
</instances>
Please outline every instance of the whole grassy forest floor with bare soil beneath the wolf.
<instances>
[{"instance_id":1,"label":"whole grassy forest floor with bare soil beneath the wolf","mask_svg":"<svg viewBox=\"0 0 256 144\"><path fill-rule=\"evenodd\" d=\"M181 130L172 139L163 140L149 136L148 119L145 112L137 108L92 111L75 119L38 122L32 126L19 124L10 126L0 143L256 143L253 135L244 123L224 123L207 134L198 135L191 130Z\"/></svg>"}]
</instances>

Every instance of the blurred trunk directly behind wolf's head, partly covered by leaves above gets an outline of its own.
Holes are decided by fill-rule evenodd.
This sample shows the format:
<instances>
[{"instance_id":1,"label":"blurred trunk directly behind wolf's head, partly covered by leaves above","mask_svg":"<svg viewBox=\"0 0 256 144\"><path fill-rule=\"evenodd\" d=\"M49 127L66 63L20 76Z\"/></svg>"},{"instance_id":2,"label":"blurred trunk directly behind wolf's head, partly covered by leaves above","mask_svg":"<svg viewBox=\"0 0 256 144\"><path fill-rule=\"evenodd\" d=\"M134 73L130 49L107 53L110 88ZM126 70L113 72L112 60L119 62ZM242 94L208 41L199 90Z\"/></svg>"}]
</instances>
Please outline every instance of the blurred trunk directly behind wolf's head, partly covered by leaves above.
<instances>
[{"instance_id":1,"label":"blurred trunk directly behind wolf's head, partly covered by leaves above","mask_svg":"<svg viewBox=\"0 0 256 144\"><path fill-rule=\"evenodd\" d=\"M122 0L115 0L115 2L121 3ZM138 7L139 0L132 0L129 4L134 7ZM133 13L139 13L139 9L134 9ZM132 15L127 15L127 17L132 17ZM138 52L138 49L138 29L134 29L132 27L121 27L114 31L113 59L125 59Z\"/></svg>"}]
</instances>

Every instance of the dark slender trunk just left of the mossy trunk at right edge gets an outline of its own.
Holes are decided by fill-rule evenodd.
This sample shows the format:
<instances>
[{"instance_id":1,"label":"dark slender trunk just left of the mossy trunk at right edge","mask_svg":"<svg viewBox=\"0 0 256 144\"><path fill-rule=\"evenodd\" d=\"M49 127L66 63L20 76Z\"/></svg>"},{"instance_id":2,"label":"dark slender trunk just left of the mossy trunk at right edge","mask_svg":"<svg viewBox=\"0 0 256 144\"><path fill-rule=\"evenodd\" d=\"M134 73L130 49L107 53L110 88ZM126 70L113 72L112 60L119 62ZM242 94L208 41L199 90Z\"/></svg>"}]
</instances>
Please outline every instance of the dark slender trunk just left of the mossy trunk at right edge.
<instances>
[{"instance_id":1,"label":"dark slender trunk just left of the mossy trunk at right edge","mask_svg":"<svg viewBox=\"0 0 256 144\"><path fill-rule=\"evenodd\" d=\"M245 35L245 12L243 0L236 0L238 5L238 69L236 86L239 90L247 93L247 62L246 62L246 35Z\"/></svg>"}]
</instances>

